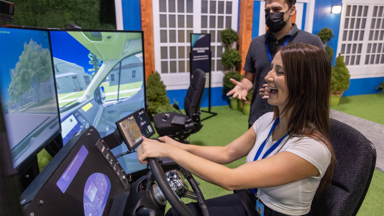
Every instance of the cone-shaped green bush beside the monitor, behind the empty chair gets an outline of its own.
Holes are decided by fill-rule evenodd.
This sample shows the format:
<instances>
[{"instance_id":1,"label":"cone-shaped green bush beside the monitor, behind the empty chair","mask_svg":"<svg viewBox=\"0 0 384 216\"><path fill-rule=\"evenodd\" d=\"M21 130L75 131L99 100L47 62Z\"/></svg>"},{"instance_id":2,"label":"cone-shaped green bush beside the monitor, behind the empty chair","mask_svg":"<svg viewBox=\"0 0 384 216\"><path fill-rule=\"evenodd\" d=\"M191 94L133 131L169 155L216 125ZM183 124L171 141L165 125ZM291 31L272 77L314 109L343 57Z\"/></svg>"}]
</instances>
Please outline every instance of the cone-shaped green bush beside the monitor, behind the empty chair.
<instances>
[{"instance_id":1,"label":"cone-shaped green bush beside the monitor, behind the empty chair","mask_svg":"<svg viewBox=\"0 0 384 216\"><path fill-rule=\"evenodd\" d=\"M160 74L154 73L148 76L146 85L146 96L149 102L147 110L151 114L173 111L172 106L169 104L166 86L160 79Z\"/></svg>"}]
</instances>

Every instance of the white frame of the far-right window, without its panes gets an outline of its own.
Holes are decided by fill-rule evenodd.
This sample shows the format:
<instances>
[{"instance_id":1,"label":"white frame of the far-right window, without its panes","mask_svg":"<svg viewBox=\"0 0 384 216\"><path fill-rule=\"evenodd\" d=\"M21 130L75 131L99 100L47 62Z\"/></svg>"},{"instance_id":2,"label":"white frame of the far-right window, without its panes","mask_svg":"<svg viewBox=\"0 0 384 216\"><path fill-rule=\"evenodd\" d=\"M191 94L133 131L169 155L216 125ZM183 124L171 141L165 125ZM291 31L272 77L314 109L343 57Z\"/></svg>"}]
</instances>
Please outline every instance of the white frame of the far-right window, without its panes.
<instances>
[{"instance_id":1,"label":"white frame of the far-right window, without its panes","mask_svg":"<svg viewBox=\"0 0 384 216\"><path fill-rule=\"evenodd\" d=\"M364 38L362 40L362 48L361 48L361 57L359 65L347 65L349 70L349 74L351 75L350 79L361 79L361 78L372 78L372 77L382 77L384 76L384 64L365 64L366 54L367 54L367 46L369 43L375 43L377 41L369 41L369 31L371 30L371 22L372 22L372 13L374 6L384 6L384 2L382 0L366 0L361 2L360 0L343 0L343 8L341 10L341 20L340 20L340 29L339 29L339 38L338 38L338 48L335 53L338 56L341 53L341 46L343 44L343 30L345 24L345 14L348 4L353 5L368 5L367 12L367 21L365 24L364 30ZM384 13L384 12L383 12ZM384 21L384 20L382 20ZM381 41L384 43L384 41ZM345 44L345 43L344 43Z\"/></svg>"}]
</instances>

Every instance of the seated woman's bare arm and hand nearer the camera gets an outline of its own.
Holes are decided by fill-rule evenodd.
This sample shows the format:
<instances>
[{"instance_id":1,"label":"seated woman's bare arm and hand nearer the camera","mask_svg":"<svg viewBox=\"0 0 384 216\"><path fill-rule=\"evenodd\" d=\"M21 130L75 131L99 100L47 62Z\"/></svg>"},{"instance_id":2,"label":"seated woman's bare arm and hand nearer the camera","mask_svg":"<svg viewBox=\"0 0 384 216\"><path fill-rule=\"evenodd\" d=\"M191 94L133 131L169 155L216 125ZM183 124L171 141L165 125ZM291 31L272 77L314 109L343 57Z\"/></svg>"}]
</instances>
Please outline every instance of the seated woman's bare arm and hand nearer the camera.
<instances>
[{"instance_id":1,"label":"seated woman's bare arm and hand nearer the camera","mask_svg":"<svg viewBox=\"0 0 384 216\"><path fill-rule=\"evenodd\" d=\"M137 157L141 163L146 163L147 157L169 157L197 177L226 190L274 187L319 175L310 162L286 151L231 169L174 145L144 138Z\"/></svg>"}]
</instances>

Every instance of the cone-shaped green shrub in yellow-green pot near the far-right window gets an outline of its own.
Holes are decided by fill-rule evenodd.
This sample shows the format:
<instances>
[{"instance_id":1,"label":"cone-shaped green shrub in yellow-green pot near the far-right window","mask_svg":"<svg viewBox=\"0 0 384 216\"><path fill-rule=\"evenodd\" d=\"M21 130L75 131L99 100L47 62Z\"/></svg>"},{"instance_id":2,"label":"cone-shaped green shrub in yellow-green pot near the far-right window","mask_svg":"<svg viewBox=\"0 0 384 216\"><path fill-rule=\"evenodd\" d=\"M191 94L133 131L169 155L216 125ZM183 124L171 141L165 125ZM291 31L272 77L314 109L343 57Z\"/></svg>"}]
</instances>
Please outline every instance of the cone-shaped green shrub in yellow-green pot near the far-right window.
<instances>
[{"instance_id":1,"label":"cone-shaped green shrub in yellow-green pot near the far-right window","mask_svg":"<svg viewBox=\"0 0 384 216\"><path fill-rule=\"evenodd\" d=\"M339 53L331 73L331 106L338 106L340 97L349 87L349 71Z\"/></svg>"}]
</instances>

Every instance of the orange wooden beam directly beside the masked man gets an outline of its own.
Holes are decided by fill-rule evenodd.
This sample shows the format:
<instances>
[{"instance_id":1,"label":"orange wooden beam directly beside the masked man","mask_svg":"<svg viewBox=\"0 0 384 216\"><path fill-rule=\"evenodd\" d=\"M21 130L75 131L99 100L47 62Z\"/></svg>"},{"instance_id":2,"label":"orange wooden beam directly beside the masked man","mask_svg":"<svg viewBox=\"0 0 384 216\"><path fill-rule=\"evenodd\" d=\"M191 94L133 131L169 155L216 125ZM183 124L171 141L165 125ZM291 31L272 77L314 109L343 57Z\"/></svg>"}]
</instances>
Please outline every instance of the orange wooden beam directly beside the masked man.
<instances>
[{"instance_id":1,"label":"orange wooden beam directly beside the masked man","mask_svg":"<svg viewBox=\"0 0 384 216\"><path fill-rule=\"evenodd\" d=\"M253 0L240 0L239 12L239 52L242 58L239 68L240 74L244 74L243 70L245 58L247 57L248 48L252 41L252 18L253 18Z\"/></svg>"}]
</instances>

